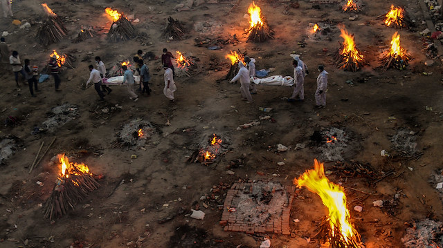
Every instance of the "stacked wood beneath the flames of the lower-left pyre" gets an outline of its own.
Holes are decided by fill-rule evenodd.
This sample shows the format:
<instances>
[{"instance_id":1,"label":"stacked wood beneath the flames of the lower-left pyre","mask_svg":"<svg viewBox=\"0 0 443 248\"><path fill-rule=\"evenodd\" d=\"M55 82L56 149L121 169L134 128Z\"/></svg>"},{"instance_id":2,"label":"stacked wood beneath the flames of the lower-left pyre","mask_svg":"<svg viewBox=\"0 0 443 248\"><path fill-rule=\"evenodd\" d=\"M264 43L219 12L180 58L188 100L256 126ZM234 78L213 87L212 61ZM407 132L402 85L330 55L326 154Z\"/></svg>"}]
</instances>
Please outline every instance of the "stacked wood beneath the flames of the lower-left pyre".
<instances>
[{"instance_id":1,"label":"stacked wood beneath the flames of the lower-left pyre","mask_svg":"<svg viewBox=\"0 0 443 248\"><path fill-rule=\"evenodd\" d=\"M69 175L57 180L53 193L44 203L44 218L55 220L64 216L75 205L84 200L88 193L98 189L100 184L89 174Z\"/></svg>"}]
</instances>

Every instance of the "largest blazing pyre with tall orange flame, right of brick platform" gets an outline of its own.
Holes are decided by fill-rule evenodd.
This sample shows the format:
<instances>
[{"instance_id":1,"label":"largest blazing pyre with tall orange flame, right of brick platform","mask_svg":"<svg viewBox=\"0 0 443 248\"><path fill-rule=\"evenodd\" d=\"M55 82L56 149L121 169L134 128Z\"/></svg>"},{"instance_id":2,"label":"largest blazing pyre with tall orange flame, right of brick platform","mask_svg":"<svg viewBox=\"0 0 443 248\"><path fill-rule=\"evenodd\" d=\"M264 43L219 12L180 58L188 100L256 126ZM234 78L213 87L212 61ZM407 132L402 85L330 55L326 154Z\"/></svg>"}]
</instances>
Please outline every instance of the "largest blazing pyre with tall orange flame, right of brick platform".
<instances>
[{"instance_id":1,"label":"largest blazing pyre with tall orange flame, right of brick platform","mask_svg":"<svg viewBox=\"0 0 443 248\"><path fill-rule=\"evenodd\" d=\"M363 247L361 237L351 221L350 211L346 207L346 195L343 187L330 182L325 175L323 163L314 160L314 169L305 171L293 183L298 188L307 187L309 191L320 196L329 214L317 237L329 247L359 248Z\"/></svg>"}]
</instances>

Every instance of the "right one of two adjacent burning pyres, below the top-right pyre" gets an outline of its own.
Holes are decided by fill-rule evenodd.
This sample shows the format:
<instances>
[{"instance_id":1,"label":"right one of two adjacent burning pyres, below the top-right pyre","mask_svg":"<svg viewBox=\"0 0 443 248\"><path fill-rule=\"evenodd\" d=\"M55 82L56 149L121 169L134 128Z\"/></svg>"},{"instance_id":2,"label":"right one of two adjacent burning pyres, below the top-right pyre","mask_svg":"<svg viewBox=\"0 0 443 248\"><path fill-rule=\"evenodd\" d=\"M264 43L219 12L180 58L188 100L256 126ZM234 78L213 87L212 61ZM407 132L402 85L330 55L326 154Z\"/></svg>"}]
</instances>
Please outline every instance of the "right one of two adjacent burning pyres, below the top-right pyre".
<instances>
[{"instance_id":1,"label":"right one of two adjacent burning pyres, below the top-right pyre","mask_svg":"<svg viewBox=\"0 0 443 248\"><path fill-rule=\"evenodd\" d=\"M383 66L384 70L392 67L403 70L408 65L409 60L410 57L408 53L406 53L406 49L400 46L400 35L398 32L395 32L395 34L392 35L389 50L383 53L381 59L379 59L381 66Z\"/></svg>"}]
</instances>

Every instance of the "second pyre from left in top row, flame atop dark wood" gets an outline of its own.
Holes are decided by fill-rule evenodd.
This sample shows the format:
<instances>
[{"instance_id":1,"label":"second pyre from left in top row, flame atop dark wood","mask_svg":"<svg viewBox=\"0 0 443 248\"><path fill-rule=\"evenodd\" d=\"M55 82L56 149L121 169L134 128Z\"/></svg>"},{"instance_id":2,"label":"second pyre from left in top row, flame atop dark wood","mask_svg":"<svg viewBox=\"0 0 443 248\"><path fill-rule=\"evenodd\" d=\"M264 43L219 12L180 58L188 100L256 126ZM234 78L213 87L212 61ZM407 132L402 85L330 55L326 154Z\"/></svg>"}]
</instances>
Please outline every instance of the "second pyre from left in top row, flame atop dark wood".
<instances>
[{"instance_id":1,"label":"second pyre from left in top row, flame atop dark wood","mask_svg":"<svg viewBox=\"0 0 443 248\"><path fill-rule=\"evenodd\" d=\"M109 42L127 41L134 37L134 26L132 26L132 23L123 13L119 13L117 10L112 10L111 8L106 8L105 12L112 17L112 25L111 28L109 28L107 37Z\"/></svg>"}]
</instances>

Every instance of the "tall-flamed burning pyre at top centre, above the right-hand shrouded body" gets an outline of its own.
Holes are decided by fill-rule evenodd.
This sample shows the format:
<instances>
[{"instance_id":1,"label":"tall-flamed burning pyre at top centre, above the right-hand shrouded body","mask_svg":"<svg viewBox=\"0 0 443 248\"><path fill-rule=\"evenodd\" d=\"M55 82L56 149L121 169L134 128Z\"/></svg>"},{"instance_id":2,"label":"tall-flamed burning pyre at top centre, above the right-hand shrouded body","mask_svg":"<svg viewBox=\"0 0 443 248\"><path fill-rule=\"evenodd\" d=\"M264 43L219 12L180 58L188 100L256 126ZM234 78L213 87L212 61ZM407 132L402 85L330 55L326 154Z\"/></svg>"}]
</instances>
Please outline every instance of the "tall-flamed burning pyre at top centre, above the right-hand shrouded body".
<instances>
[{"instance_id":1,"label":"tall-flamed burning pyre at top centre, above the right-hand shrouded body","mask_svg":"<svg viewBox=\"0 0 443 248\"><path fill-rule=\"evenodd\" d=\"M274 31L269 27L266 18L262 17L261 8L252 2L248 8L248 13L251 16L251 20L249 21L250 26L245 32L248 35L246 42L263 42L267 39L274 39Z\"/></svg>"}]
</instances>

